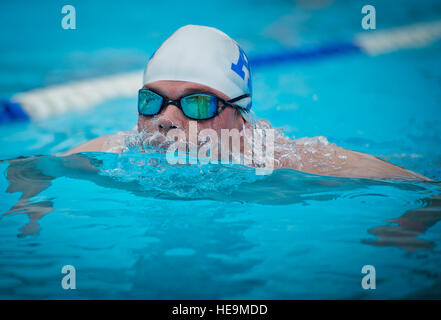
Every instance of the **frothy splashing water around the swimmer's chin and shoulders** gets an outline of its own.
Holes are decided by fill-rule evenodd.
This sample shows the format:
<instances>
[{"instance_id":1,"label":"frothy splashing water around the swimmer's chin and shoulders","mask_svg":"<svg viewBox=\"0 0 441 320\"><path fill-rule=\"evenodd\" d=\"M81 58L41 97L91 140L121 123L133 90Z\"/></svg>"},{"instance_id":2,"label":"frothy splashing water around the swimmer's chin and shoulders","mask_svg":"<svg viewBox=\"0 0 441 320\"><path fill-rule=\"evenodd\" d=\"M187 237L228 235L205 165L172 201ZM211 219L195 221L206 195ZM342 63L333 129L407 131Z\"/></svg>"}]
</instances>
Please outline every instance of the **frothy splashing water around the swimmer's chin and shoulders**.
<instances>
[{"instance_id":1,"label":"frothy splashing water around the swimmer's chin and shoulders","mask_svg":"<svg viewBox=\"0 0 441 320\"><path fill-rule=\"evenodd\" d=\"M159 117L155 116L152 123L155 124L158 120ZM182 129L172 120L167 120L174 127ZM265 140L265 138L268 139L267 133L270 131L273 132L272 141ZM190 138L188 138L189 135ZM210 163L222 161L223 164L241 164L253 168L268 168L268 163L271 163L271 169L291 168L302 171L305 168L313 168L315 172L323 174L330 170L342 168L347 158L344 149L337 147L334 143L329 143L325 137L290 138L285 135L283 128L274 128L269 121L264 119L254 120L248 128L245 126L242 128L238 148L233 147L234 139L231 145L228 142L226 150L222 139L212 139L210 136L202 134L202 132L190 133L189 135L184 132L183 135L174 139L160 131L138 131L137 126L135 126L132 131L119 132L110 136L103 145L102 151L130 154L163 154L174 144L176 150L185 152L184 155L181 155L179 163L202 164L207 163L208 158ZM268 142L271 144L272 152L269 152ZM264 144L262 153L265 154L265 162L262 162L262 157L257 158L255 152L253 152L256 145L260 143ZM201 150L202 147L208 150L208 153L201 156L197 150ZM217 152L210 152L215 149L217 149ZM225 150L227 152L226 156L223 154ZM192 162L186 160L187 157L196 159L193 159ZM205 161L201 161L202 158ZM147 161L146 163L152 165L154 161Z\"/></svg>"}]
</instances>

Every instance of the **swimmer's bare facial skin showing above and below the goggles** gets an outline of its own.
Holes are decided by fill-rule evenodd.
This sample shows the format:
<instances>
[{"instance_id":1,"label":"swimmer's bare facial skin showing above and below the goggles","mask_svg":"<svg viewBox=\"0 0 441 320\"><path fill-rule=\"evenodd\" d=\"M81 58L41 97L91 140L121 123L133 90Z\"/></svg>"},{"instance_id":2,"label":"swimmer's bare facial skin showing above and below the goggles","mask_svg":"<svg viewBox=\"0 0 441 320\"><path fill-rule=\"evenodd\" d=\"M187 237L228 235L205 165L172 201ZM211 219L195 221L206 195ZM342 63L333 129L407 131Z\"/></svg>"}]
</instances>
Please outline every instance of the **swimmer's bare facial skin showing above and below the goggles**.
<instances>
[{"instance_id":1,"label":"swimmer's bare facial skin showing above and below the goggles","mask_svg":"<svg viewBox=\"0 0 441 320\"><path fill-rule=\"evenodd\" d=\"M181 97L198 92L211 93L224 100L231 97L226 96L222 92L214 90L202 84L187 81L156 81L144 86L145 89L152 89L164 97L177 100ZM175 105L168 105L155 116L138 116L138 131L159 131L166 135L171 129L179 128L188 132L190 121L196 121L187 118L181 109ZM221 129L238 129L243 128L244 120L239 112L232 107L226 107L219 115L211 119L197 120L198 131L203 129L214 129L220 136Z\"/></svg>"}]
</instances>

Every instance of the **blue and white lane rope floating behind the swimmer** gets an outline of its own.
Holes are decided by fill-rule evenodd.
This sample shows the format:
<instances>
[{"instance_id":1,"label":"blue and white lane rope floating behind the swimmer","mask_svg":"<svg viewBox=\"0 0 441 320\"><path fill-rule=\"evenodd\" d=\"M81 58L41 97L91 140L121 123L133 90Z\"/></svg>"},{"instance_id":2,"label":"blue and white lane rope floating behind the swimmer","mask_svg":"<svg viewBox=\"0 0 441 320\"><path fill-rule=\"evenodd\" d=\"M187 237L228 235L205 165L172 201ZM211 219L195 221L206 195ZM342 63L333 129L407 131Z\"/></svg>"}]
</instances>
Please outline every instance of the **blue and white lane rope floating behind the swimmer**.
<instances>
[{"instance_id":1,"label":"blue and white lane rope floating behind the swimmer","mask_svg":"<svg viewBox=\"0 0 441 320\"><path fill-rule=\"evenodd\" d=\"M254 56L250 57L250 65L253 69L351 53L376 56L400 49L425 47L440 38L441 20L384 31L366 31L356 35L352 41ZM141 79L142 70L19 93L10 100L0 101L0 124L44 119L67 110L88 109L113 98L133 97Z\"/></svg>"}]
</instances>

